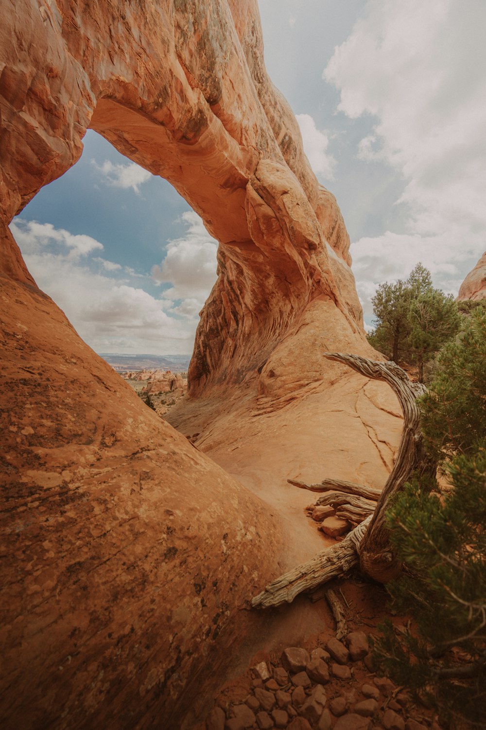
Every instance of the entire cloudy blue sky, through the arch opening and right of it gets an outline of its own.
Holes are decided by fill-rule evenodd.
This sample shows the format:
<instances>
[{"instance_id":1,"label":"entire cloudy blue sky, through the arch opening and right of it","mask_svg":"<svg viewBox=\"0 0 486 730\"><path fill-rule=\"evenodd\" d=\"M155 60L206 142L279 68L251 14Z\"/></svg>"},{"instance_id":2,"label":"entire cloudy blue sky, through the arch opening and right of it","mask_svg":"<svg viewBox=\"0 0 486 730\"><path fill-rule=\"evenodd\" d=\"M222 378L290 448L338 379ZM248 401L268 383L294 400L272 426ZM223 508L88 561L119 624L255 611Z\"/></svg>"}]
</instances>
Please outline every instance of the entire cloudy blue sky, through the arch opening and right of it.
<instances>
[{"instance_id":1,"label":"entire cloudy blue sky, through the arch opening and right of it","mask_svg":"<svg viewBox=\"0 0 486 730\"><path fill-rule=\"evenodd\" d=\"M259 0L267 70L337 197L367 326L421 261L454 296L486 250L484 0ZM216 241L169 183L87 131L12 222L28 269L98 353L189 354Z\"/></svg>"}]
</instances>

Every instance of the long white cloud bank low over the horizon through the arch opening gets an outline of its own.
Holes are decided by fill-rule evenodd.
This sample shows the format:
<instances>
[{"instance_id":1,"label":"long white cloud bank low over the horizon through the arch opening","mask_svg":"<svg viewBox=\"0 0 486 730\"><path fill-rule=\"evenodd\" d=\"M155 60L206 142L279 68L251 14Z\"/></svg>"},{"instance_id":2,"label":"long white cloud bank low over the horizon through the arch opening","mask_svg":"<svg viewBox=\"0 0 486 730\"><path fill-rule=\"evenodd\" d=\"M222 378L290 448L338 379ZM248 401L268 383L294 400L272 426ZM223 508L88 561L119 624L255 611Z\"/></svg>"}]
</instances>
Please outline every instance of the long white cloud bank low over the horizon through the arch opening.
<instances>
[{"instance_id":1,"label":"long white cloud bank low over the horizon through the arch opening","mask_svg":"<svg viewBox=\"0 0 486 730\"><path fill-rule=\"evenodd\" d=\"M98 352L190 353L197 321L133 285L125 267L99 256L103 245L48 223L17 218L12 234L36 283Z\"/></svg>"}]
</instances>

